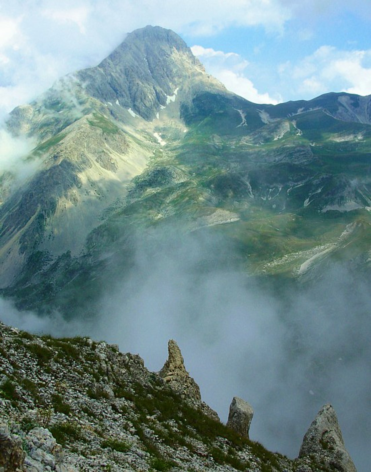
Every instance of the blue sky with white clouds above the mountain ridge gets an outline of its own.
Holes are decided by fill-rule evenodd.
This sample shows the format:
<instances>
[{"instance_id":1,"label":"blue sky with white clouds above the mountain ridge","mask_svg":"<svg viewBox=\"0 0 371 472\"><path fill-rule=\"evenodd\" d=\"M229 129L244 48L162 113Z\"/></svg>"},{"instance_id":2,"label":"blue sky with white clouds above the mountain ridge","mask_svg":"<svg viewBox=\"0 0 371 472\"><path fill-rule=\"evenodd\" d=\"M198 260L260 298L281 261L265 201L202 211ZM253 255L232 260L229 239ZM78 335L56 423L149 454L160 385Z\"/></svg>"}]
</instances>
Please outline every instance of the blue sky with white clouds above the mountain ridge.
<instances>
[{"instance_id":1,"label":"blue sky with white clouds above the mountain ridge","mask_svg":"<svg viewBox=\"0 0 371 472\"><path fill-rule=\"evenodd\" d=\"M171 28L255 102L371 94L370 0L0 0L0 117L99 63L127 32Z\"/></svg>"}]
</instances>

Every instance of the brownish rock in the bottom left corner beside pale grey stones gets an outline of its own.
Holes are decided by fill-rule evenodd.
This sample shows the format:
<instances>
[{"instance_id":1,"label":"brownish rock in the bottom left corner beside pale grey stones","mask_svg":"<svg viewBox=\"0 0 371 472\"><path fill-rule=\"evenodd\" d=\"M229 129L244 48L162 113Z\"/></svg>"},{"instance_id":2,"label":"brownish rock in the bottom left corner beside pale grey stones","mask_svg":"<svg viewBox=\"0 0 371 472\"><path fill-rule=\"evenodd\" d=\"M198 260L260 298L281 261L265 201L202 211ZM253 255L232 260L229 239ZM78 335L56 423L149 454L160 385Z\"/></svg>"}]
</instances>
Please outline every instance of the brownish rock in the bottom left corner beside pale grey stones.
<instances>
[{"instance_id":1,"label":"brownish rock in the bottom left corner beside pale grey stones","mask_svg":"<svg viewBox=\"0 0 371 472\"><path fill-rule=\"evenodd\" d=\"M0 472L21 472L24 460L21 438L10 434L8 426L0 422Z\"/></svg>"}]
</instances>

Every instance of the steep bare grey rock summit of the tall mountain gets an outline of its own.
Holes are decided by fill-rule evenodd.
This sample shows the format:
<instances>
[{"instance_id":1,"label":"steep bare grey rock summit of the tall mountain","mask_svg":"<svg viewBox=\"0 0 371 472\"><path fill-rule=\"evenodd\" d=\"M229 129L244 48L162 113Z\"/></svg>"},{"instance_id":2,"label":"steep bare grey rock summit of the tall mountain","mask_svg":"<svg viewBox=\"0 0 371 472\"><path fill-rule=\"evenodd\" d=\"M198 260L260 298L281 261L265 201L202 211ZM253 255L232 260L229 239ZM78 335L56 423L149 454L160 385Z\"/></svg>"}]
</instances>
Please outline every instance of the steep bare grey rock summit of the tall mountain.
<instances>
[{"instance_id":1,"label":"steep bare grey rock summit of the tall mountain","mask_svg":"<svg viewBox=\"0 0 371 472\"><path fill-rule=\"evenodd\" d=\"M91 96L148 121L175 100L179 89L192 89L203 76L204 67L180 36L160 26L133 31L97 67L78 73ZM216 79L210 80L221 88Z\"/></svg>"}]
</instances>

